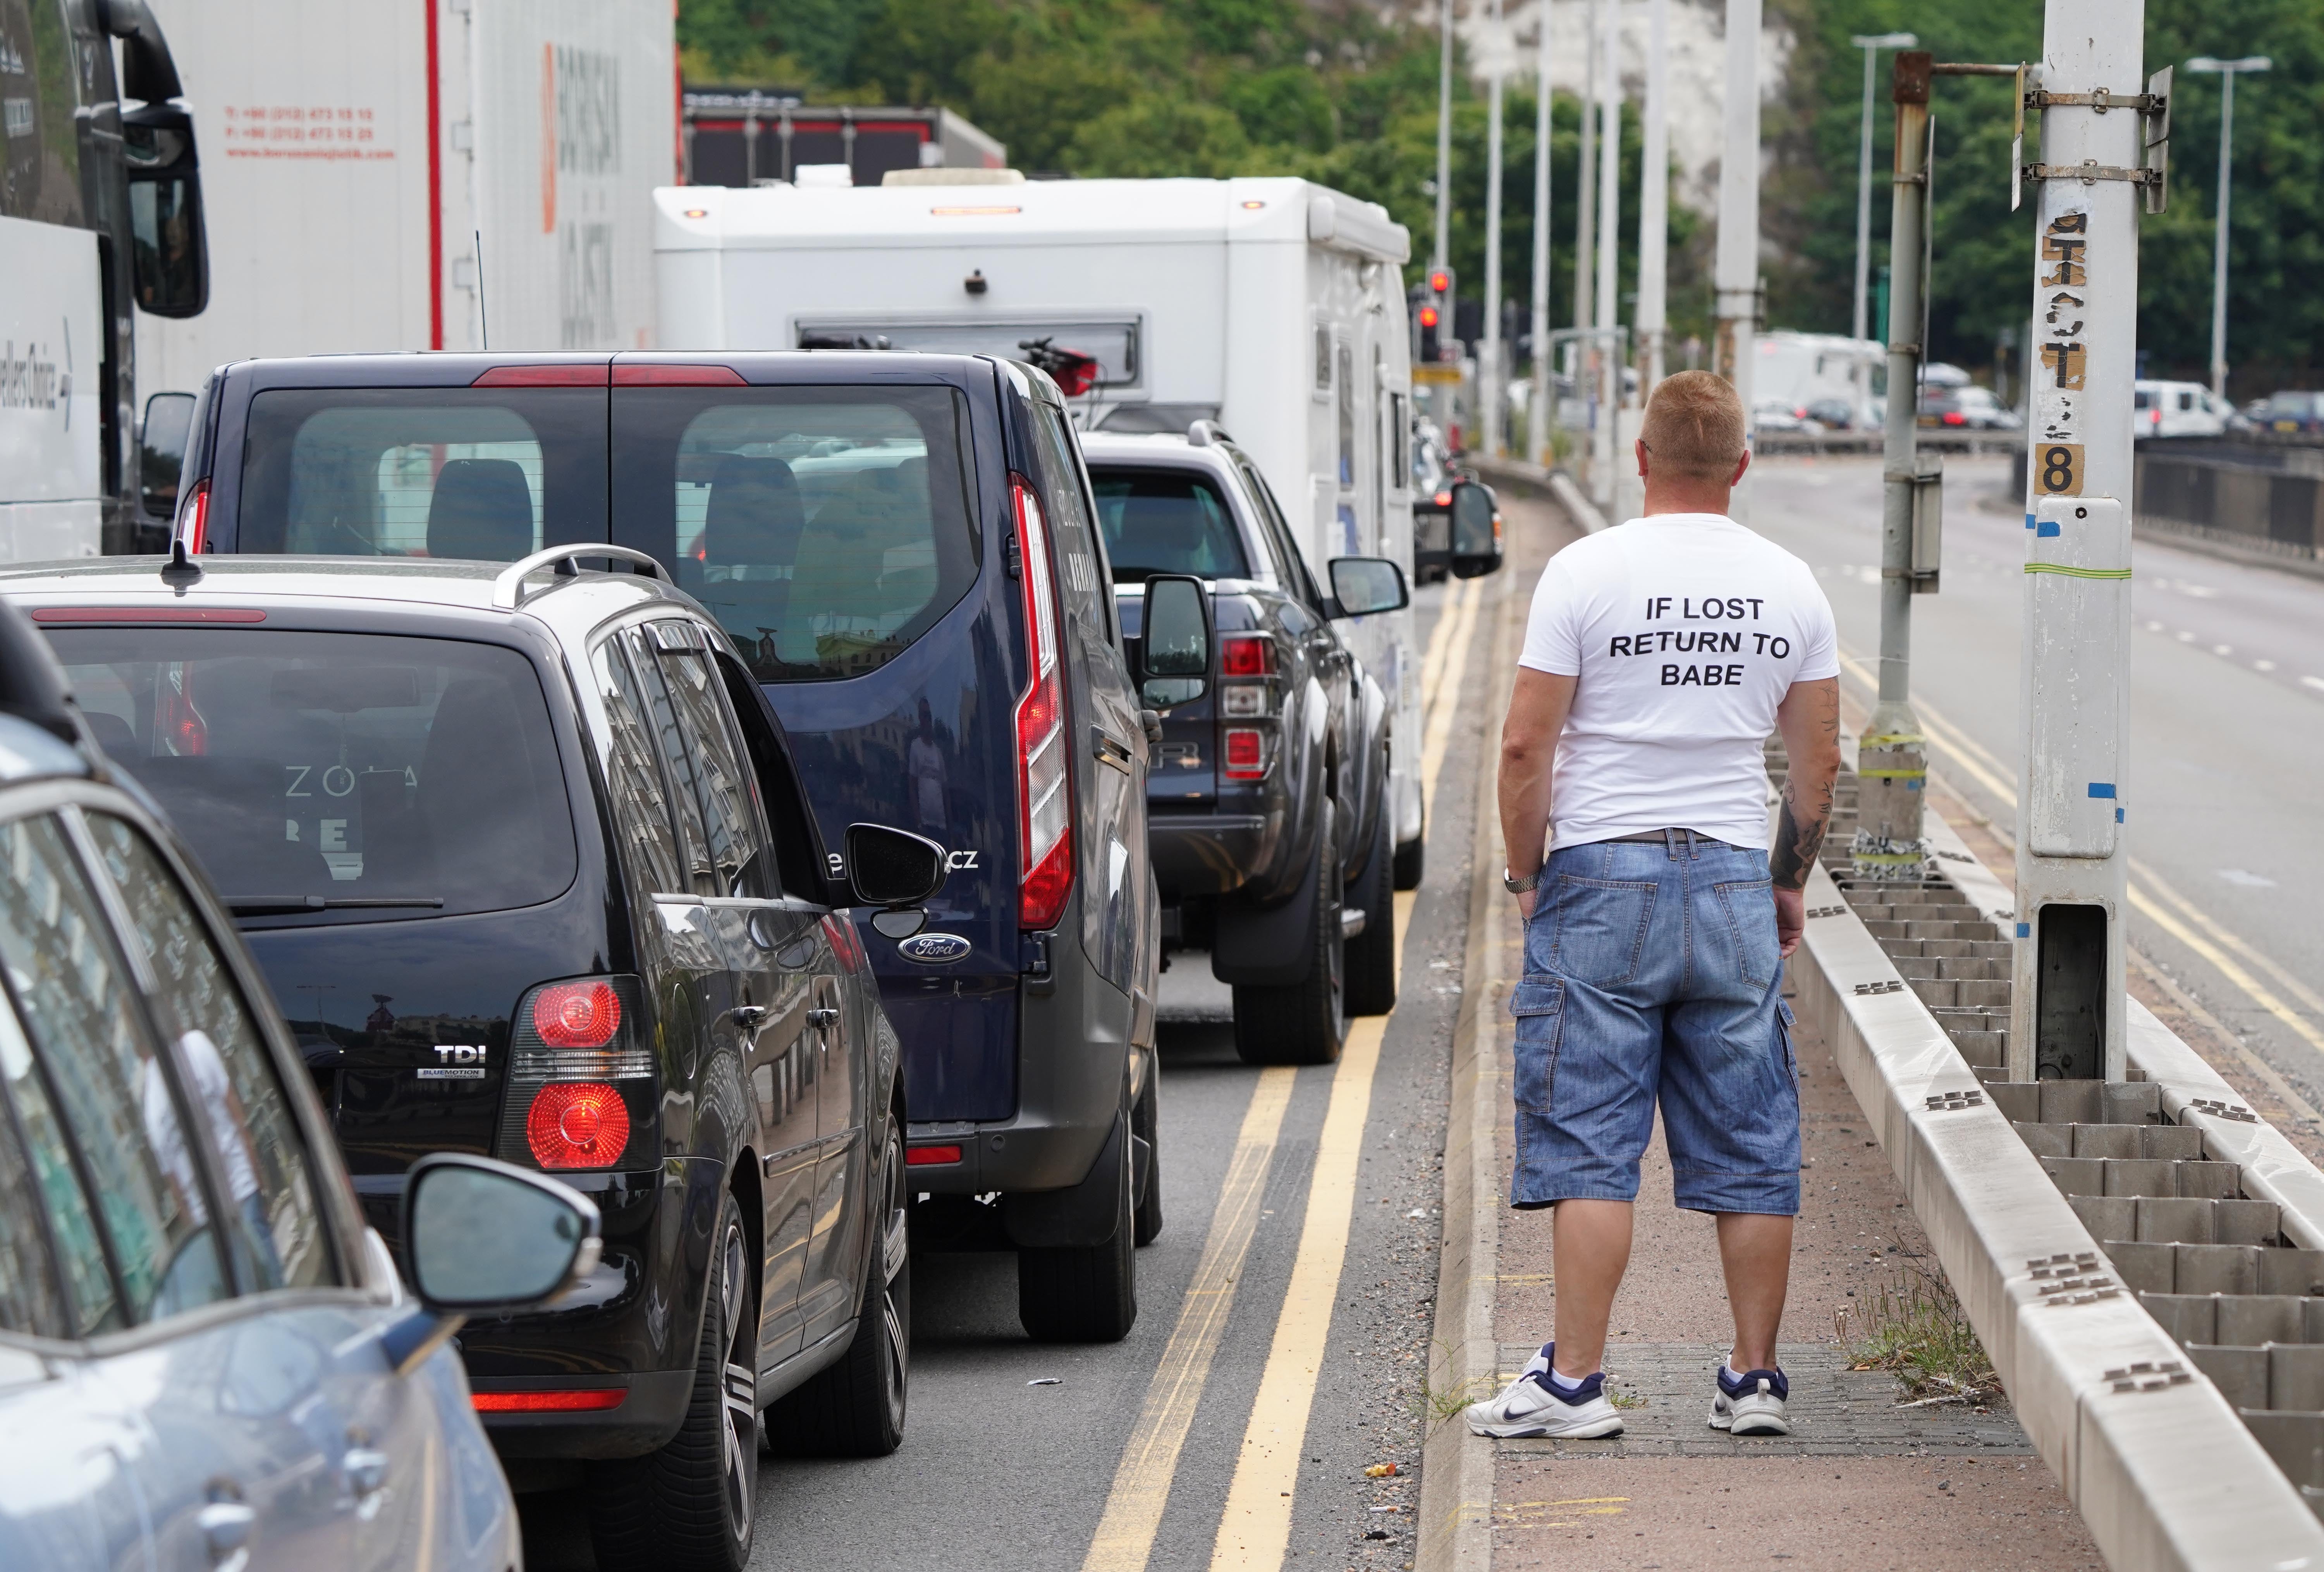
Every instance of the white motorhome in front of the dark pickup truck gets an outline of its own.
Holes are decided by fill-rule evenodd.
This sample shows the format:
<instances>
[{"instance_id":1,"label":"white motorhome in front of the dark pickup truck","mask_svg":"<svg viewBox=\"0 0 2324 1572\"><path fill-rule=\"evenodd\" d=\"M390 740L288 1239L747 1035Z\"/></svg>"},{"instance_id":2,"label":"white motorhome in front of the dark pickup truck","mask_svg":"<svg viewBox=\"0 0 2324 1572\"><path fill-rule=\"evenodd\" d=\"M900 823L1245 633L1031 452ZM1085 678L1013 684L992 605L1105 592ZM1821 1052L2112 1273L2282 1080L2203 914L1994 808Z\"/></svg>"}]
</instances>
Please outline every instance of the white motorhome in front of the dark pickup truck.
<instances>
[{"instance_id":1,"label":"white motorhome in front of the dark pickup truck","mask_svg":"<svg viewBox=\"0 0 2324 1572\"><path fill-rule=\"evenodd\" d=\"M932 184L964 174L976 184ZM1090 358L1085 430L1218 421L1308 565L1413 565L1404 226L1301 179L1018 181L902 172L862 188L655 193L665 349L899 349ZM909 181L909 184L904 184ZM1394 707L1399 846L1422 833L1411 612L1360 619Z\"/></svg>"}]
</instances>

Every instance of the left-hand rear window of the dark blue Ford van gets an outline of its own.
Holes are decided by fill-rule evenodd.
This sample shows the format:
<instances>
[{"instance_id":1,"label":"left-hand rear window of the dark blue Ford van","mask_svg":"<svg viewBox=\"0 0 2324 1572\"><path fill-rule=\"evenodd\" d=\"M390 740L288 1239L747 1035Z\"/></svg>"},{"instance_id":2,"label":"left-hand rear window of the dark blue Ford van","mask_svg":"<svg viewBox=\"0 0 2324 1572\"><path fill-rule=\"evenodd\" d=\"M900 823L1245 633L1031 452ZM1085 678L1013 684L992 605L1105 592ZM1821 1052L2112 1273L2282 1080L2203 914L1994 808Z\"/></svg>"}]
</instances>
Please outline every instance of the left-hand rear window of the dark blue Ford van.
<instances>
[{"instance_id":1,"label":"left-hand rear window of the dark blue Ford van","mask_svg":"<svg viewBox=\"0 0 2324 1572\"><path fill-rule=\"evenodd\" d=\"M604 540L602 388L274 388L235 551L516 558Z\"/></svg>"}]
</instances>

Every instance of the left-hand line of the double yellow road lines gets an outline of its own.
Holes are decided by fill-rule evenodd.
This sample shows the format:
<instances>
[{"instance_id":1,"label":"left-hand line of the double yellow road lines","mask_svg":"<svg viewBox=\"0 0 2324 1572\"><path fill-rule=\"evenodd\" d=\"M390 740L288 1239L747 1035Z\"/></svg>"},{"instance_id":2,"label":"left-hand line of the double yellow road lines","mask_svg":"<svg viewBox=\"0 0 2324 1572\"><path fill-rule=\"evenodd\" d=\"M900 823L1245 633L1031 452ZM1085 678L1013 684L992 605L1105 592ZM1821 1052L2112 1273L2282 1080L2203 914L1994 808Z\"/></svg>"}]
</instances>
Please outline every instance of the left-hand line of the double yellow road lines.
<instances>
[{"instance_id":1,"label":"left-hand line of the double yellow road lines","mask_svg":"<svg viewBox=\"0 0 2324 1572\"><path fill-rule=\"evenodd\" d=\"M1178 1326L1162 1349L1162 1363L1146 1384L1146 1407L1113 1470L1113 1491L1106 1495L1106 1514L1097 1521L1090 1553L1081 1560L1083 1572L1136 1572L1153 1556L1155 1530L1162 1525L1171 1479L1178 1474L1178 1451L1211 1381L1211 1360L1227 1332L1227 1312L1234 1309L1234 1284L1243 1274L1243 1258L1260 1228L1267 1167L1276 1156L1276 1135L1283 1130L1283 1109L1290 1107L1297 1074L1287 1065L1262 1070L1250 1091L1243 1130L1227 1163L1227 1181L1211 1212L1211 1232L1204 1235L1202 1265L1195 1267L1195 1281L1178 1307Z\"/></svg>"}]
</instances>

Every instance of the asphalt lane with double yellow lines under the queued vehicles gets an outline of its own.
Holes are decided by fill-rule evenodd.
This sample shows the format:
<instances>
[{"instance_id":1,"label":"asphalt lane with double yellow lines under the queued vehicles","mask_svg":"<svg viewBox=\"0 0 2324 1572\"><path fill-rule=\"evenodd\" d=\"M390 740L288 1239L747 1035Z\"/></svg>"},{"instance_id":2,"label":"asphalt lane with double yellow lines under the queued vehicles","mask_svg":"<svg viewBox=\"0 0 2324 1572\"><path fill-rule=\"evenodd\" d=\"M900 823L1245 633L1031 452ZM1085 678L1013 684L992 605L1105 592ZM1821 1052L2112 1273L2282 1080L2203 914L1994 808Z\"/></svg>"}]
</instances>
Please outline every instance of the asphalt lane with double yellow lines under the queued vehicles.
<instances>
[{"instance_id":1,"label":"asphalt lane with double yellow lines under the queued vehicles","mask_svg":"<svg viewBox=\"0 0 2324 1572\"><path fill-rule=\"evenodd\" d=\"M1013 1256L918 1256L904 1446L762 1458L753 1567L1411 1563L1499 586L1415 598L1422 646L1443 626L1429 665L1443 719L1422 760L1439 781L1427 877L1399 898L1397 1012L1350 1023L1341 1065L1253 1070L1208 958L1181 953L1162 977L1167 1223L1139 1251L1132 1335L1034 1344ZM1367 1474L1385 1463L1397 1472ZM590 1565L579 1516L572 1498L525 1500L537 1572Z\"/></svg>"}]
</instances>

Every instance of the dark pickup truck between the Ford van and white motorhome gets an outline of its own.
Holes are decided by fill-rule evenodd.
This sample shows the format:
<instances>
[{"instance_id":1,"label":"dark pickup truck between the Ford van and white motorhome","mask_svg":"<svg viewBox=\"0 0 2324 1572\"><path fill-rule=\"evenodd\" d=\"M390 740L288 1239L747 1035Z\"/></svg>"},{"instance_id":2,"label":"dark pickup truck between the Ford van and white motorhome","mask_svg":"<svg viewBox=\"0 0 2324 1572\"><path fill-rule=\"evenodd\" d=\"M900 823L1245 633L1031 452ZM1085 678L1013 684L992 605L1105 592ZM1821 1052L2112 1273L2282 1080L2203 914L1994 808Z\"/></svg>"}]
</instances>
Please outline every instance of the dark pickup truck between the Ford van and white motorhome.
<instances>
[{"instance_id":1,"label":"dark pickup truck between the Ford van and white motorhome","mask_svg":"<svg viewBox=\"0 0 2324 1572\"><path fill-rule=\"evenodd\" d=\"M1211 586L1208 691L1146 693L1169 705L1146 777L1162 944L1208 951L1234 986L1243 1060L1329 1063L1350 1014L1397 1002L1390 702L1339 628L1404 607L1404 572L1336 558L1318 584L1257 467L1208 421L1081 442L1125 642L1148 577Z\"/></svg>"}]
</instances>

